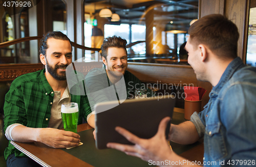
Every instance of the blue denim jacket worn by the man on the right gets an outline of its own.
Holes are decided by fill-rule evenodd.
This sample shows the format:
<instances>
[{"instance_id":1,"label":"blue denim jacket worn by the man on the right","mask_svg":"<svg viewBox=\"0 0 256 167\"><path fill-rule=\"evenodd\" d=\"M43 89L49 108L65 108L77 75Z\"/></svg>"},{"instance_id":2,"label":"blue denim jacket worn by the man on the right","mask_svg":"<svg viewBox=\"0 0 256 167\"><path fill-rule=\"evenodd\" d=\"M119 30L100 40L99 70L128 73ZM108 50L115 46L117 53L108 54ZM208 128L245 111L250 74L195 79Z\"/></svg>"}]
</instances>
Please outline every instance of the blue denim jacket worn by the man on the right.
<instances>
[{"instance_id":1,"label":"blue denim jacket worn by the man on the right","mask_svg":"<svg viewBox=\"0 0 256 167\"><path fill-rule=\"evenodd\" d=\"M256 166L256 68L234 59L209 97L191 116L204 136L203 165Z\"/></svg>"}]
</instances>

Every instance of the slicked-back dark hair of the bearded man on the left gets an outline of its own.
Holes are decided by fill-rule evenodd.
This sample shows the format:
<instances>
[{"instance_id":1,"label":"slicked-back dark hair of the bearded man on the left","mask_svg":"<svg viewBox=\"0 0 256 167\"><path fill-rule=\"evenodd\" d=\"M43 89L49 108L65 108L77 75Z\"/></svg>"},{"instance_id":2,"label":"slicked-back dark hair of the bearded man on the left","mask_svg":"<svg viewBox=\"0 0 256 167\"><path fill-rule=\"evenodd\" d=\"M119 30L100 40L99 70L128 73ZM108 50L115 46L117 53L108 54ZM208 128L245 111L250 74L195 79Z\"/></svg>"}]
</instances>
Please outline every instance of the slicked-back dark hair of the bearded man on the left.
<instances>
[{"instance_id":1,"label":"slicked-back dark hair of the bearded man on the left","mask_svg":"<svg viewBox=\"0 0 256 167\"><path fill-rule=\"evenodd\" d=\"M39 47L39 54L46 55L46 49L48 49L47 40L50 38L59 39L59 40L67 40L70 42L71 50L72 50L72 44L70 39L61 32L48 32L42 37L40 40L40 47Z\"/></svg>"}]
</instances>

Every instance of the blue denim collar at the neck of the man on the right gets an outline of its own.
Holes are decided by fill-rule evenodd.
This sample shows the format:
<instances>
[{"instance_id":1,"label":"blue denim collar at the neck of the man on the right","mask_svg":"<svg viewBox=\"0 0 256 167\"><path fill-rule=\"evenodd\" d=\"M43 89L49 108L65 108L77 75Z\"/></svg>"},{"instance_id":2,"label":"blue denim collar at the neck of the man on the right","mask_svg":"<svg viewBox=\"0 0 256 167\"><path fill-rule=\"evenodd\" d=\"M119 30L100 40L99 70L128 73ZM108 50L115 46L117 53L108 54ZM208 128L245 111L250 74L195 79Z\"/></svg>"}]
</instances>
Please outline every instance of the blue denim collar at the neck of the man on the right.
<instances>
[{"instance_id":1,"label":"blue denim collar at the neck of the man on the right","mask_svg":"<svg viewBox=\"0 0 256 167\"><path fill-rule=\"evenodd\" d=\"M213 98L213 97L218 96L220 90L226 84L226 82L232 77L233 73L236 72L237 70L241 69L244 66L246 66L246 65L243 63L243 61L239 57L237 57L231 63L229 63L226 70L222 74L221 79L218 82L218 84L212 88L212 90L209 94L209 97Z\"/></svg>"}]
</instances>

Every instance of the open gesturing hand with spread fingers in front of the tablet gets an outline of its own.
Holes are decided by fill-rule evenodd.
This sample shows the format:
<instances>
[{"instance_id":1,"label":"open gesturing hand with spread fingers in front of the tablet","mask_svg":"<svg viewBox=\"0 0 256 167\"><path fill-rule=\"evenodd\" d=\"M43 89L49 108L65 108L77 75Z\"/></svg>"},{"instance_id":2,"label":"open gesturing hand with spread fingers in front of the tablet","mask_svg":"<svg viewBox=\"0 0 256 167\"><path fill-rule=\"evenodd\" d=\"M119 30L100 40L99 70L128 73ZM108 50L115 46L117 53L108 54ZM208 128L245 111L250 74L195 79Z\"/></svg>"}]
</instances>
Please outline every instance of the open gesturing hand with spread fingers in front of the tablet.
<instances>
[{"instance_id":1,"label":"open gesturing hand with spread fingers in front of the tablet","mask_svg":"<svg viewBox=\"0 0 256 167\"><path fill-rule=\"evenodd\" d=\"M164 161L169 159L172 154L168 142L165 138L166 124L170 120L169 117L164 118L158 127L155 136L150 139L139 138L131 132L121 127L116 127L116 131L123 135L128 141L135 145L123 145L118 143L108 143L107 147L125 152L127 155L132 155L148 161Z\"/></svg>"}]
</instances>

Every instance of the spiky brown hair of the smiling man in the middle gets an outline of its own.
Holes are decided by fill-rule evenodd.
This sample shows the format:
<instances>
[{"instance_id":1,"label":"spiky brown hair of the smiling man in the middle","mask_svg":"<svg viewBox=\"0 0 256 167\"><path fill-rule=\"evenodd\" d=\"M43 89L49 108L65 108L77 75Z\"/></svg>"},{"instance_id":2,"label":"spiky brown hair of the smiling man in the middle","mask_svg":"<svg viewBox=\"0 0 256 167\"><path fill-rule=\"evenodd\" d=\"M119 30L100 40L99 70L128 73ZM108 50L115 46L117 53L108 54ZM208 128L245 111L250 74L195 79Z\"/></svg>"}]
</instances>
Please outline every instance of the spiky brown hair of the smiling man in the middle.
<instances>
[{"instance_id":1,"label":"spiky brown hair of the smiling man in the middle","mask_svg":"<svg viewBox=\"0 0 256 167\"><path fill-rule=\"evenodd\" d=\"M124 48L127 54L126 50L126 44L127 41L121 37L113 36L113 37L107 37L104 39L103 44L101 45L101 57L104 57L106 59L106 56L108 55L108 48L109 47L118 47L118 48Z\"/></svg>"}]
</instances>

